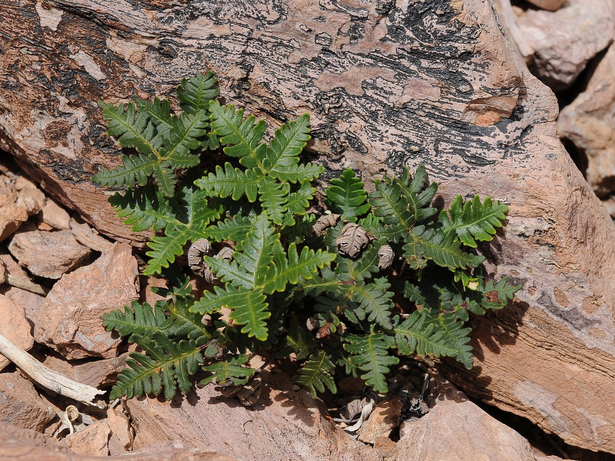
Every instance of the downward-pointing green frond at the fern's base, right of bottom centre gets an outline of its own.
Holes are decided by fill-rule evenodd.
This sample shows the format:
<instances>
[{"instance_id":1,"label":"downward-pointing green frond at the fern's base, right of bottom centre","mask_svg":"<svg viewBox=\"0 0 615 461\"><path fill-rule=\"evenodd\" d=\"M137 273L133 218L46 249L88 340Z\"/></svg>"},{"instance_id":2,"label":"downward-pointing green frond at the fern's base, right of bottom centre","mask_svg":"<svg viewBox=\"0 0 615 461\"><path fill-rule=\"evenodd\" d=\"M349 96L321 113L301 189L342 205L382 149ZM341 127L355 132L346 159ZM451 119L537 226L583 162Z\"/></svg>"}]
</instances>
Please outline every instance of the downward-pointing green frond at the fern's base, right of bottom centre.
<instances>
[{"instance_id":1,"label":"downward-pointing green frond at the fern's base, right of bottom centre","mask_svg":"<svg viewBox=\"0 0 615 461\"><path fill-rule=\"evenodd\" d=\"M399 358L389 355L387 349L395 346L394 338L385 333L348 334L344 336L344 349L352 355L349 360L362 371L365 384L374 388L376 392L387 393L385 375L390 371L389 366L399 363Z\"/></svg>"}]
</instances>

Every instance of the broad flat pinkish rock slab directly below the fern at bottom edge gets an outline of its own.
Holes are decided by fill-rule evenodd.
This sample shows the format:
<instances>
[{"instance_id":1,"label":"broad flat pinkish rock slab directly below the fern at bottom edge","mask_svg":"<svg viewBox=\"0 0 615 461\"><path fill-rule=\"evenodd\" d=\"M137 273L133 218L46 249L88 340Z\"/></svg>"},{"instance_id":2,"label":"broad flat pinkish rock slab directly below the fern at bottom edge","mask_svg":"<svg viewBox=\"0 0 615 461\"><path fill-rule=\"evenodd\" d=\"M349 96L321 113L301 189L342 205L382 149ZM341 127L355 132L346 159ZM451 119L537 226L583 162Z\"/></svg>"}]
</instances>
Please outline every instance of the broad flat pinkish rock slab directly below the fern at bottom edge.
<instances>
[{"instance_id":1,"label":"broad flat pinkish rock slab directly below the fern at bottom edge","mask_svg":"<svg viewBox=\"0 0 615 461\"><path fill-rule=\"evenodd\" d=\"M353 441L325 418L325 408L304 390L293 391L287 376L263 371L261 403L242 406L213 385L169 402L128 400L137 431L135 451L157 442L216 449L244 461L381 460L378 451Z\"/></svg>"}]
</instances>

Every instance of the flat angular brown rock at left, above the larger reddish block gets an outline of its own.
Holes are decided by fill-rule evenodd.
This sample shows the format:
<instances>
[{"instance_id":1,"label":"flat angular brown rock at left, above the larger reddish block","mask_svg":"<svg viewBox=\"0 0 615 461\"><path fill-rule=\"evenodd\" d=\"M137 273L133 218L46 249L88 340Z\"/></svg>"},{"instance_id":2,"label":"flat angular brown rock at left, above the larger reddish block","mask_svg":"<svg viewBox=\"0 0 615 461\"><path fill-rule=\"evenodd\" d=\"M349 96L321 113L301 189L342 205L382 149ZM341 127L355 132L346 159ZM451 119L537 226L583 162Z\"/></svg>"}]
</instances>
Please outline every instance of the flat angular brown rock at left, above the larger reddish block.
<instances>
[{"instance_id":1,"label":"flat angular brown rock at left, above the larger reddish block","mask_svg":"<svg viewBox=\"0 0 615 461\"><path fill-rule=\"evenodd\" d=\"M9 251L33 274L56 279L81 265L91 253L69 230L20 232L10 241Z\"/></svg>"}]
</instances>

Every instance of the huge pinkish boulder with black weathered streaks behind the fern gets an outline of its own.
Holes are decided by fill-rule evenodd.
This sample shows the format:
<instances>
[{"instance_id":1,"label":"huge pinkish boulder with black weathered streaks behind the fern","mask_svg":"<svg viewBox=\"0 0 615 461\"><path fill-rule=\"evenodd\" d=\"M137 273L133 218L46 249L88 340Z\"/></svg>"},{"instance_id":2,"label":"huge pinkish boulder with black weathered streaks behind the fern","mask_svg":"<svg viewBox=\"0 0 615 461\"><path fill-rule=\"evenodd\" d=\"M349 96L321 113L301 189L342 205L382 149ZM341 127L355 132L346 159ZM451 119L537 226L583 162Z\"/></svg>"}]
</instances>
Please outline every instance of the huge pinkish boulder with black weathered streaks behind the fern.
<instances>
[{"instance_id":1,"label":"huge pinkish boulder with black weathered streaks behind the fern","mask_svg":"<svg viewBox=\"0 0 615 461\"><path fill-rule=\"evenodd\" d=\"M270 123L310 112L324 179L423 162L446 202L504 200L509 224L486 252L524 288L480 322L474 374L459 381L615 452L615 229L490 1L7 1L0 31L2 146L108 235L130 238L89 180L120 155L95 101L167 95L207 68L226 101Z\"/></svg>"}]
</instances>

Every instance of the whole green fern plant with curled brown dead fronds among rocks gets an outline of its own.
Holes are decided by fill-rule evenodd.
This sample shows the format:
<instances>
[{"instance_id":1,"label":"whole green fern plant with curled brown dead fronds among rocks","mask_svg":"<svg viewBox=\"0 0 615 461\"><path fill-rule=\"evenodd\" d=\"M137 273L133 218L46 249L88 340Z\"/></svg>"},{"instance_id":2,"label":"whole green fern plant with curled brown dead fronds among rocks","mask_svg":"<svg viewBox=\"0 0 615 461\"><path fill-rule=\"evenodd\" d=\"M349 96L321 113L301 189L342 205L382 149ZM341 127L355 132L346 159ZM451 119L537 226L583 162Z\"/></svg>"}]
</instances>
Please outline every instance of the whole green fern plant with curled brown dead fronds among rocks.
<instances>
[{"instance_id":1,"label":"whole green fern plant with curled brown dead fronds among rocks","mask_svg":"<svg viewBox=\"0 0 615 461\"><path fill-rule=\"evenodd\" d=\"M265 142L263 120L222 104L215 82L211 72L183 79L177 112L158 97L100 103L108 134L125 150L121 165L93 181L121 188L109 201L132 230L157 232L145 274L169 281L156 289L164 301L103 317L140 347L111 398L171 399L201 370L201 384L251 404L247 395L260 388L252 353L293 355L293 379L312 395L335 393L343 374L385 393L400 356L454 357L470 368L469 313L502 309L520 288L488 277L474 250L502 226L506 205L459 196L438 211L437 184L422 165L376 180L370 194L347 169L331 180L328 210L316 219L308 209L323 168L299 158L309 116ZM176 258L202 239L199 248L232 257L196 254L211 283L196 296ZM394 301L396 293L407 301Z\"/></svg>"}]
</instances>

